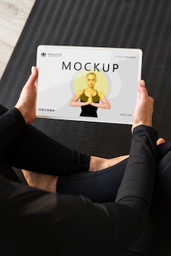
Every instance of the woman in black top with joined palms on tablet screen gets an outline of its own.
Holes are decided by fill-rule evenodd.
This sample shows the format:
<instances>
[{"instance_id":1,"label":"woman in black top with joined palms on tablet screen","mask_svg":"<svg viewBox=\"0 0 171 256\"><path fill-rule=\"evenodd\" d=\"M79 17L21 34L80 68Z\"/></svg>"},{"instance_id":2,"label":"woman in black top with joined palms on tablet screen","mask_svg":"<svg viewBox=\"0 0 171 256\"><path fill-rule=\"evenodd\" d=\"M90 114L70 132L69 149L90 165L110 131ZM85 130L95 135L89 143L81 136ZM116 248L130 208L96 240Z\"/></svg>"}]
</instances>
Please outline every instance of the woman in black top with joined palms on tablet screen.
<instances>
[{"instance_id":1,"label":"woman in black top with joined palms on tablet screen","mask_svg":"<svg viewBox=\"0 0 171 256\"><path fill-rule=\"evenodd\" d=\"M103 92L95 89L97 82L96 74L93 72L86 75L86 89L80 89L70 101L71 107L81 107L80 117L98 117L98 108L110 109L110 103Z\"/></svg>"}]
</instances>

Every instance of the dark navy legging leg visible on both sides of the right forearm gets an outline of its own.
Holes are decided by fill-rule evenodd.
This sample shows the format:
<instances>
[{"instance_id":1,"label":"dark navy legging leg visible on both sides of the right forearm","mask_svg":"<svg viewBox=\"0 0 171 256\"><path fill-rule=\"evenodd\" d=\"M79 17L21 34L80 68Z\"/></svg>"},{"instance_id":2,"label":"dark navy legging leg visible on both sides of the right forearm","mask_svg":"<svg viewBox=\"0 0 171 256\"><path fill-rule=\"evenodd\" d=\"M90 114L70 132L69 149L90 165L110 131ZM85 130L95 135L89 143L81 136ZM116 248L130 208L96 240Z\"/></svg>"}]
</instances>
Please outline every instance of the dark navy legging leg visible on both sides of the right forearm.
<instances>
[{"instance_id":1,"label":"dark navy legging leg visible on both sides of the right forearm","mask_svg":"<svg viewBox=\"0 0 171 256\"><path fill-rule=\"evenodd\" d=\"M171 142L158 145L157 155L157 181L151 216L138 242L123 256L171 255ZM60 176L58 192L84 195L92 201L113 200L123 178L126 162L127 159L95 173Z\"/></svg>"}]
</instances>

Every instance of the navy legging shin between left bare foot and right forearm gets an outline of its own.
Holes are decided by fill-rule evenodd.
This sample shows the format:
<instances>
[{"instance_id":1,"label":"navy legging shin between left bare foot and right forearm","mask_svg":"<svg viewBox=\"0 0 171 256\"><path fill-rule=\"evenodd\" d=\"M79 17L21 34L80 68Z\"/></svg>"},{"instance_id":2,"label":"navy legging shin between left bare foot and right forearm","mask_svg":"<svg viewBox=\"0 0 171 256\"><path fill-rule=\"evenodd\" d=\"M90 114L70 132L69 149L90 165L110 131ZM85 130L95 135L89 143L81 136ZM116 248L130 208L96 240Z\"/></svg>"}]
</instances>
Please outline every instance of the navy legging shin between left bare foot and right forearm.
<instances>
[{"instance_id":1,"label":"navy legging shin between left bare foot and right forearm","mask_svg":"<svg viewBox=\"0 0 171 256\"><path fill-rule=\"evenodd\" d=\"M61 194L84 195L92 201L114 201L126 169L127 159L97 172L59 176L57 191Z\"/></svg>"}]
</instances>

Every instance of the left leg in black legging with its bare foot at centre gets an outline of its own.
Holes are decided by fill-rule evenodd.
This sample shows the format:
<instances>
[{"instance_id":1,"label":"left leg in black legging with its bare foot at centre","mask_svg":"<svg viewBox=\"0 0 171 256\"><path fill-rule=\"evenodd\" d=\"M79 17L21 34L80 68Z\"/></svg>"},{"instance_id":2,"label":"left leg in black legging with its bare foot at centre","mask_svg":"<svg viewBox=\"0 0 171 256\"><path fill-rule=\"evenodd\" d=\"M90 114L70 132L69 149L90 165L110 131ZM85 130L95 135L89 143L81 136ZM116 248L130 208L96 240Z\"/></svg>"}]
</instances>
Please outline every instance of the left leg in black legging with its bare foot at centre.
<instances>
[{"instance_id":1,"label":"left leg in black legging with its bare foot at centre","mask_svg":"<svg viewBox=\"0 0 171 256\"><path fill-rule=\"evenodd\" d=\"M0 113L5 111L8 110L0 105ZM5 151L5 157L14 167L55 176L70 175L73 170L101 170L125 158L90 158L61 145L31 125L28 125L25 136Z\"/></svg>"}]
</instances>

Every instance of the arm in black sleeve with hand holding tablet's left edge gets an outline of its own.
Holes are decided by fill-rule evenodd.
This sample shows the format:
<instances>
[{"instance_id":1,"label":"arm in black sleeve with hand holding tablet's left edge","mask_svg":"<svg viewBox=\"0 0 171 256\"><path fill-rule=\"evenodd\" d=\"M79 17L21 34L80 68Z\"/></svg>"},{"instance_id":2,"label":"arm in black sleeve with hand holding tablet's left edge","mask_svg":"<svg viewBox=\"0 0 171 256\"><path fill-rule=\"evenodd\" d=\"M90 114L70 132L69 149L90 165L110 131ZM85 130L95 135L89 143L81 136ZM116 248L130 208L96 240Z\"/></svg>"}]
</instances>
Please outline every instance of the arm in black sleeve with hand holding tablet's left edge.
<instances>
[{"instance_id":1,"label":"arm in black sleeve with hand holding tablet's left edge","mask_svg":"<svg viewBox=\"0 0 171 256\"><path fill-rule=\"evenodd\" d=\"M9 145L16 141L26 131L26 123L30 123L36 118L35 105L33 102L36 98L35 82L37 78L37 70L32 73L30 79L23 87L19 101L15 108L6 111L0 117L0 153L5 151ZM26 93L24 91L27 91ZM23 94L25 95L23 97ZM30 105L26 102L26 94L32 98ZM21 107L24 106L24 107Z\"/></svg>"}]
</instances>

